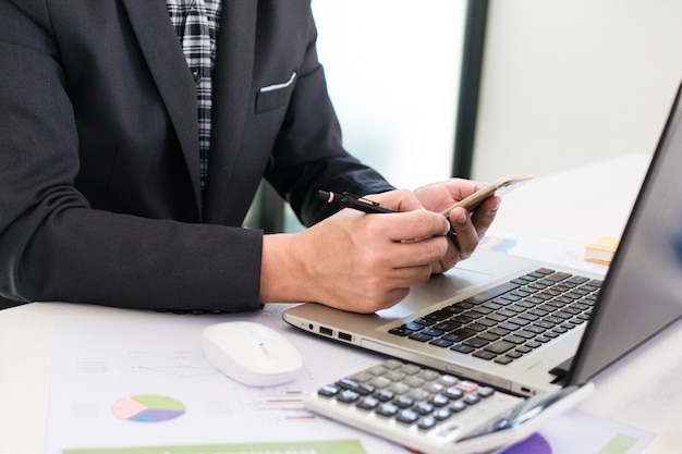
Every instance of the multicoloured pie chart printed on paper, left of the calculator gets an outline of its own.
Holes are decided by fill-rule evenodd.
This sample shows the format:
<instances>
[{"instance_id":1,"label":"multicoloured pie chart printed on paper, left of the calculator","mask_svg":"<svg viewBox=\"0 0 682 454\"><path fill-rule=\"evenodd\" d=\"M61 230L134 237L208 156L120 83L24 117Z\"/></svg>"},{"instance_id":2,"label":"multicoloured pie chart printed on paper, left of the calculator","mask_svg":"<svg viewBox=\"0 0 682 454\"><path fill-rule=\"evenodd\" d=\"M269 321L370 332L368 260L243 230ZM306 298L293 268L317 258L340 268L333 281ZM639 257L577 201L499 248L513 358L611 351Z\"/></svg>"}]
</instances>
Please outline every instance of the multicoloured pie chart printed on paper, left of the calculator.
<instances>
[{"instance_id":1,"label":"multicoloured pie chart printed on paper, left of the calculator","mask_svg":"<svg viewBox=\"0 0 682 454\"><path fill-rule=\"evenodd\" d=\"M157 394L125 397L113 404L112 407L115 416L135 422L168 421L184 415L186 409L182 402Z\"/></svg>"}]
</instances>

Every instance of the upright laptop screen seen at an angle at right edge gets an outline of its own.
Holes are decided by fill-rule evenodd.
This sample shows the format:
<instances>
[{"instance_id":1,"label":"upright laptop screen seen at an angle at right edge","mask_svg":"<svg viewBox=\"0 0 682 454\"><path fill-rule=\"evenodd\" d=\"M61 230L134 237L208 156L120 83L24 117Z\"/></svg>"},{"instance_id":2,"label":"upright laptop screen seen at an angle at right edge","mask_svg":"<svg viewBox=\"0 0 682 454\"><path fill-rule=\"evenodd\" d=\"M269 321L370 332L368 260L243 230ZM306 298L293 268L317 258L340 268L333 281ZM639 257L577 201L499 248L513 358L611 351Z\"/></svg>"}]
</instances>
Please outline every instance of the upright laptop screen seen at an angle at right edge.
<instances>
[{"instance_id":1,"label":"upright laptop screen seen at an angle at right edge","mask_svg":"<svg viewBox=\"0 0 682 454\"><path fill-rule=\"evenodd\" d=\"M568 382L588 381L681 316L682 106L678 90Z\"/></svg>"}]
</instances>

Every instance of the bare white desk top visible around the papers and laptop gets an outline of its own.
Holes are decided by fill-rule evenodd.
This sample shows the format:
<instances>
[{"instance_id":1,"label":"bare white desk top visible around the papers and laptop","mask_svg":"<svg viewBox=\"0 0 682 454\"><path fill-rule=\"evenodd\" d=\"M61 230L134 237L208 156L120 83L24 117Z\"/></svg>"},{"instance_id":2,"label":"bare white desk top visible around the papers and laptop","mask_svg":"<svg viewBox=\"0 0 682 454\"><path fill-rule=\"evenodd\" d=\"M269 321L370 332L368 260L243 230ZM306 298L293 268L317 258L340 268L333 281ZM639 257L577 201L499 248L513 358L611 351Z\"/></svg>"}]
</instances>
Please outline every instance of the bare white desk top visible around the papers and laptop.
<instances>
[{"instance_id":1,"label":"bare white desk top visible around the papers and laptop","mask_svg":"<svg viewBox=\"0 0 682 454\"><path fill-rule=\"evenodd\" d=\"M581 243L604 233L620 234L648 159L629 156L536 179L504 196L496 229ZM594 197L577 203L585 194ZM0 453L42 452L56 319L121 315L155 316L53 303L0 311ZM597 380L597 392L579 409L656 433L646 454L679 452L682 364L669 359L679 357L671 352L680 345L682 322L604 372Z\"/></svg>"}]
</instances>

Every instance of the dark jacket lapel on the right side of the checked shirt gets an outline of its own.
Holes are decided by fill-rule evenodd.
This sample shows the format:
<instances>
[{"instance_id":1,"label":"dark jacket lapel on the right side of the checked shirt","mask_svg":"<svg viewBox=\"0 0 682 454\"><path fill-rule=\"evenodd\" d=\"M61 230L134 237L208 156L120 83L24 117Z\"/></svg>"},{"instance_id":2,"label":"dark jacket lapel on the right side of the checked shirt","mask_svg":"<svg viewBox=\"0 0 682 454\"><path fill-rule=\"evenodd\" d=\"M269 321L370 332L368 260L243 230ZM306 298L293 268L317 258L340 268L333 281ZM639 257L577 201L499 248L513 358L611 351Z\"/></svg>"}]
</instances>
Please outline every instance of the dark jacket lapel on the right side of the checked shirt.
<instances>
[{"instance_id":1,"label":"dark jacket lapel on the right side of the checked shirt","mask_svg":"<svg viewBox=\"0 0 682 454\"><path fill-rule=\"evenodd\" d=\"M257 0L224 0L214 73L211 150L206 221L224 222L230 175L249 109L256 40Z\"/></svg>"}]
</instances>

